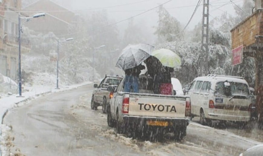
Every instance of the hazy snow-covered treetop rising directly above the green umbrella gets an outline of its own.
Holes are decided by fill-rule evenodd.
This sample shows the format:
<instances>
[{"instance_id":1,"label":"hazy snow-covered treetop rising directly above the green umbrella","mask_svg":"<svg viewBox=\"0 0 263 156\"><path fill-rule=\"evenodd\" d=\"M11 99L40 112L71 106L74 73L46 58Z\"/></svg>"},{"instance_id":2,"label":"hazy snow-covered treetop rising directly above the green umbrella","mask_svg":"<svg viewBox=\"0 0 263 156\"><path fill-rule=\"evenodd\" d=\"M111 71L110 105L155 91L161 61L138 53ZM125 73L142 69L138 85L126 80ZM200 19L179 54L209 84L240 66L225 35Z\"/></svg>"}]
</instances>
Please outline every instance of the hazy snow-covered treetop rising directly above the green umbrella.
<instances>
[{"instance_id":1,"label":"hazy snow-covered treetop rising directly above the green umbrella","mask_svg":"<svg viewBox=\"0 0 263 156\"><path fill-rule=\"evenodd\" d=\"M154 32L158 37L157 42L165 43L182 39L182 34L177 35L182 30L180 22L172 17L162 5L159 7L158 14L158 26Z\"/></svg>"}]
</instances>

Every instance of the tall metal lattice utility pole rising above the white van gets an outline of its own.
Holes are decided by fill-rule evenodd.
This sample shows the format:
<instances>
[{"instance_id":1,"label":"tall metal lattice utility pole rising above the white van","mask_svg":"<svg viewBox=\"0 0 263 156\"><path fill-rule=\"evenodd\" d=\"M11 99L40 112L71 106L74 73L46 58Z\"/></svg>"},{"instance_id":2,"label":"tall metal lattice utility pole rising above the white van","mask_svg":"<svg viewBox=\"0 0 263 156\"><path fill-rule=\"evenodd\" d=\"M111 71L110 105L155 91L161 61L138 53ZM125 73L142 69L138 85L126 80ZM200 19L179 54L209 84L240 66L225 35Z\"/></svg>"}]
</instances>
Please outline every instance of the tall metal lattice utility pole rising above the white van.
<instances>
[{"instance_id":1,"label":"tall metal lattice utility pole rising above the white van","mask_svg":"<svg viewBox=\"0 0 263 156\"><path fill-rule=\"evenodd\" d=\"M208 74L208 41L209 41L209 0L203 0L202 40L201 40L201 68L202 76Z\"/></svg>"}]
</instances>

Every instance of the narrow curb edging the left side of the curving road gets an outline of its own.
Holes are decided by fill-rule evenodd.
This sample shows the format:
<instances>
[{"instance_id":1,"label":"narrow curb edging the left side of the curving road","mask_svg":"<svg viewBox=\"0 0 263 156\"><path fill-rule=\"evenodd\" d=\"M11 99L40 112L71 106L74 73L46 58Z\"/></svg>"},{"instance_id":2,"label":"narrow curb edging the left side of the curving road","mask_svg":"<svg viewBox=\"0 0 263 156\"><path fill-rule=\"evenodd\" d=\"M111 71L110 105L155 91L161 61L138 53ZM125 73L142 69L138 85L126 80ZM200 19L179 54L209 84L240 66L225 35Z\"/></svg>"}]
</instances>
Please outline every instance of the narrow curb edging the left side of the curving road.
<instances>
[{"instance_id":1,"label":"narrow curb edging the left side of the curving road","mask_svg":"<svg viewBox=\"0 0 263 156\"><path fill-rule=\"evenodd\" d=\"M74 87L72 87L72 88L65 88L65 89L63 89L63 90L57 90L57 91L46 91L46 92L43 92L43 93L39 93L39 94L35 94L35 95L31 95L31 96L29 96L29 97L27 97L27 98L25 98L25 99L23 99L23 100L21 100L21 101L19 101L19 102L15 102L14 104L16 104L16 105L18 105L19 103L22 103L22 102L25 102L25 101L28 101L28 100L35 100L36 98L38 98L39 96L41 96L41 95L51 95L51 94L55 94L55 93L60 93L60 92L64 92L64 91L70 91L70 90L73 90L73 89L77 89L77 88L80 88L80 87L84 87L84 86L86 86L86 85L89 85L89 84L92 84L93 82L87 82L87 83L85 83L85 84L79 84L80 86L74 86ZM4 122L4 118L5 118L5 116L7 115L7 113L8 113L8 111L10 110L10 109L12 109L13 107L11 107L11 108L7 108L6 110L5 110L5 113L1 116L1 125L3 124L3 122ZM2 137L2 129L1 129L1 127L0 127L0 137ZM0 144L0 156L2 156L2 145Z\"/></svg>"}]
</instances>

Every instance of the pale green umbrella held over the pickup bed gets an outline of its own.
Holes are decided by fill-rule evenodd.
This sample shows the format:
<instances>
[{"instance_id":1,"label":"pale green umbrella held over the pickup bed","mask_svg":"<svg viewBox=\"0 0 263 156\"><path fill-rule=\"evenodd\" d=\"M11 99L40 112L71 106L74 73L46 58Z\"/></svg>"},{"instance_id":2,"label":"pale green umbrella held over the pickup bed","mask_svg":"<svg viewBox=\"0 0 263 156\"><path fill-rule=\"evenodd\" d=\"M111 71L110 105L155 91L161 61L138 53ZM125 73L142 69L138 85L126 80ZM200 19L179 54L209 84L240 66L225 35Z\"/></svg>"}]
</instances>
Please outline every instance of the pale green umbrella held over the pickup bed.
<instances>
[{"instance_id":1,"label":"pale green umbrella held over the pickup bed","mask_svg":"<svg viewBox=\"0 0 263 156\"><path fill-rule=\"evenodd\" d=\"M174 68L181 65L180 56L169 49L155 50L152 52L152 56L159 59L163 66Z\"/></svg>"}]
</instances>

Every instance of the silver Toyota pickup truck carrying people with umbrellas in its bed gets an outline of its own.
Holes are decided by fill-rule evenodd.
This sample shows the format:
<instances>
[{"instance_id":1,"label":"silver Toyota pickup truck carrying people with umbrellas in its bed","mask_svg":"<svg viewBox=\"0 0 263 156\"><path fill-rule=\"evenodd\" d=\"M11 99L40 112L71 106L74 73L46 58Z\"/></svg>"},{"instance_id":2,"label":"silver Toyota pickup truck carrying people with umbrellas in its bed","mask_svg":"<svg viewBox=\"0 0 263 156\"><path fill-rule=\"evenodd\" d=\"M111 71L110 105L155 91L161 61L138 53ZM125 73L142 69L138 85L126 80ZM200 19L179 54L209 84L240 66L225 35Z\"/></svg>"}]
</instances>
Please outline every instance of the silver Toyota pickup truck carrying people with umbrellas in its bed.
<instances>
[{"instance_id":1,"label":"silver Toyota pickup truck carrying people with umbrellas in its bed","mask_svg":"<svg viewBox=\"0 0 263 156\"><path fill-rule=\"evenodd\" d=\"M107 121L117 133L174 133L177 140L186 136L191 115L188 96L153 94L151 77L140 75L139 93L123 92L125 78L117 88L109 86L113 97L107 108ZM156 132L155 132L156 133Z\"/></svg>"}]
</instances>

